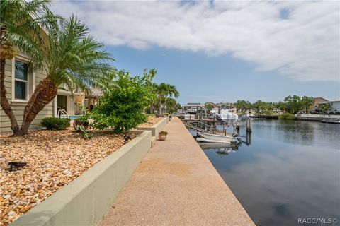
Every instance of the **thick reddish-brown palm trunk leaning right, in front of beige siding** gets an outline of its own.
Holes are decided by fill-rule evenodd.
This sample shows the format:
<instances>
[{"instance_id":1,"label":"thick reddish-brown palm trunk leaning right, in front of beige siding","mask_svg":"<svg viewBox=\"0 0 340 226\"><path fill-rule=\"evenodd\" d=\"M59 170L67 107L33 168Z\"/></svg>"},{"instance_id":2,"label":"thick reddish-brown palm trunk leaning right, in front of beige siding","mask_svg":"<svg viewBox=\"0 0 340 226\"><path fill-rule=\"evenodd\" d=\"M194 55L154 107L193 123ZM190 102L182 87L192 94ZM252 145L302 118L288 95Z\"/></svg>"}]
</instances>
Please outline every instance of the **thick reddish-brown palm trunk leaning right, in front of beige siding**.
<instances>
[{"instance_id":1,"label":"thick reddish-brown palm trunk leaning right, in front of beige siding","mask_svg":"<svg viewBox=\"0 0 340 226\"><path fill-rule=\"evenodd\" d=\"M30 124L37 114L57 95L57 88L49 77L44 78L35 88L28 104L23 112L23 124L21 124L20 134L27 134Z\"/></svg>"}]
</instances>

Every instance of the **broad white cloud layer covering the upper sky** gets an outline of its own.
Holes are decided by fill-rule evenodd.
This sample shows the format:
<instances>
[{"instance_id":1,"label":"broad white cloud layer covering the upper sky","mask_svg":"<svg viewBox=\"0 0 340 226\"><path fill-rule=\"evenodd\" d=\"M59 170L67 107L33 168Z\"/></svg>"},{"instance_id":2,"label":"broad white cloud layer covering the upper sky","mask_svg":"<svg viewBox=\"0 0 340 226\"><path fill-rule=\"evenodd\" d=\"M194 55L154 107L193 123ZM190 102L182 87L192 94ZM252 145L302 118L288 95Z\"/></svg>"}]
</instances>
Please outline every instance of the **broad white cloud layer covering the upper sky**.
<instances>
[{"instance_id":1,"label":"broad white cloud layer covering the upper sky","mask_svg":"<svg viewBox=\"0 0 340 226\"><path fill-rule=\"evenodd\" d=\"M107 45L229 53L298 81L340 81L338 1L58 1L52 8L79 16Z\"/></svg>"}]
</instances>

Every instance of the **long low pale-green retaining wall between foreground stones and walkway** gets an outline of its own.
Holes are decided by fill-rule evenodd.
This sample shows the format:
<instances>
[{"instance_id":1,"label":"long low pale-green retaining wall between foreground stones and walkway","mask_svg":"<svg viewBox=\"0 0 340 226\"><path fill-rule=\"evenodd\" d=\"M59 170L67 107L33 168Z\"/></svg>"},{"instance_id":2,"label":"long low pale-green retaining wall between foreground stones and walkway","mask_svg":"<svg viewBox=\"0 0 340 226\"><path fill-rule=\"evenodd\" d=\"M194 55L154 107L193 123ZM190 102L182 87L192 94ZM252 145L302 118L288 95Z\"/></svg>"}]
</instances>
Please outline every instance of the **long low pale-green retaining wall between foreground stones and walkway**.
<instances>
[{"instance_id":1,"label":"long low pale-green retaining wall between foreground stones and walkway","mask_svg":"<svg viewBox=\"0 0 340 226\"><path fill-rule=\"evenodd\" d=\"M144 131L22 215L16 225L99 225L151 148ZM81 160L80 160L81 161Z\"/></svg>"}]
</instances>

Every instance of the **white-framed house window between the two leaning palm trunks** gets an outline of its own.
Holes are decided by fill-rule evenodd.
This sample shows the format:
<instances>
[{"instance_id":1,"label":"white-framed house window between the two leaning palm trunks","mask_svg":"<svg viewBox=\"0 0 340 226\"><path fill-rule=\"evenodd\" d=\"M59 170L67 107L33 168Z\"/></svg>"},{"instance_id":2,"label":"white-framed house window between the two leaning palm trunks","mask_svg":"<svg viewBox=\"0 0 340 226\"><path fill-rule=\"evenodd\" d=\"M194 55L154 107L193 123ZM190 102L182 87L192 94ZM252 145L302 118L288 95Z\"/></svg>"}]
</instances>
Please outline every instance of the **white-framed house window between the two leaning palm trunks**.
<instances>
[{"instance_id":1,"label":"white-framed house window between the two leaning palm trunks","mask_svg":"<svg viewBox=\"0 0 340 226\"><path fill-rule=\"evenodd\" d=\"M28 95L28 64L16 61L14 97L26 100Z\"/></svg>"}]
</instances>

